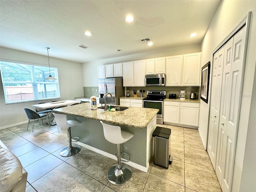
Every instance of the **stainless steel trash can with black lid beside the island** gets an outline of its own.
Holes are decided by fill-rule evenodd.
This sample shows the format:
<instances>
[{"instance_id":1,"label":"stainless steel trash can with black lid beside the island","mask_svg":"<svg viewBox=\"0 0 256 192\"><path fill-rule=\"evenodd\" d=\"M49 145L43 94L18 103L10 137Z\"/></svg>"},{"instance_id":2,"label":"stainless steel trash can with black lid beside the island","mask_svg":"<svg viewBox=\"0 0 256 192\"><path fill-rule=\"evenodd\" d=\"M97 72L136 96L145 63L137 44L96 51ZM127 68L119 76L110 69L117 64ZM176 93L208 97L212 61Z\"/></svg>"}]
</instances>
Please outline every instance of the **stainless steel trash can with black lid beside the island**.
<instances>
[{"instance_id":1,"label":"stainless steel trash can with black lid beside the island","mask_svg":"<svg viewBox=\"0 0 256 192\"><path fill-rule=\"evenodd\" d=\"M171 130L164 127L156 127L152 136L155 138L154 144L154 164L168 169L172 163L169 154L169 138Z\"/></svg>"}]
</instances>

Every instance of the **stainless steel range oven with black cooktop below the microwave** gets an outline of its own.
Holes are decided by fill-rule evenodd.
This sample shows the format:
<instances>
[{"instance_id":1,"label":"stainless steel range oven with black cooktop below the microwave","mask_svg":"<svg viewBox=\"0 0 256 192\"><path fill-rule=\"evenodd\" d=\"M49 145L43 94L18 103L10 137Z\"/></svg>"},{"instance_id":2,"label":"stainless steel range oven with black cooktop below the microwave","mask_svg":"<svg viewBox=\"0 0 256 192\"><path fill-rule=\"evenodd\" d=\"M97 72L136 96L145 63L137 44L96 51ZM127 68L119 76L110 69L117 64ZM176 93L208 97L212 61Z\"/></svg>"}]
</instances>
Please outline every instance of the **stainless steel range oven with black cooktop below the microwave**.
<instances>
[{"instance_id":1,"label":"stainless steel range oven with black cooktop below the microwave","mask_svg":"<svg viewBox=\"0 0 256 192\"><path fill-rule=\"evenodd\" d=\"M156 123L163 124L164 99L166 91L147 91L147 97L143 99L144 108L159 109L156 114Z\"/></svg>"}]
</instances>

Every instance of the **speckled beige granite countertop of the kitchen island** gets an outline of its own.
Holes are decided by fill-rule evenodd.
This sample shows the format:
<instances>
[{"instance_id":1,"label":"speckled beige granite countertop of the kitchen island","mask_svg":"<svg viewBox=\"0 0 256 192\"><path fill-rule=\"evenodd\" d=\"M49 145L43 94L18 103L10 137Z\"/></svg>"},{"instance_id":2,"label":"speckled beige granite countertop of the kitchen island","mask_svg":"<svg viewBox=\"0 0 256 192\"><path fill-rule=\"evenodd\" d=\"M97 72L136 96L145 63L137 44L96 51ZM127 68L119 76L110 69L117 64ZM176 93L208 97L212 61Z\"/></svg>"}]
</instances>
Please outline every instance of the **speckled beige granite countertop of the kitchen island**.
<instances>
[{"instance_id":1,"label":"speckled beige granite countertop of the kitchen island","mask_svg":"<svg viewBox=\"0 0 256 192\"><path fill-rule=\"evenodd\" d=\"M101 104L97 104L97 107ZM78 117L90 118L110 122L113 124L144 128L158 113L158 109L129 107L123 111L104 111L104 109L90 109L90 103L83 103L64 108L58 108L54 111L60 114L75 115Z\"/></svg>"}]
</instances>

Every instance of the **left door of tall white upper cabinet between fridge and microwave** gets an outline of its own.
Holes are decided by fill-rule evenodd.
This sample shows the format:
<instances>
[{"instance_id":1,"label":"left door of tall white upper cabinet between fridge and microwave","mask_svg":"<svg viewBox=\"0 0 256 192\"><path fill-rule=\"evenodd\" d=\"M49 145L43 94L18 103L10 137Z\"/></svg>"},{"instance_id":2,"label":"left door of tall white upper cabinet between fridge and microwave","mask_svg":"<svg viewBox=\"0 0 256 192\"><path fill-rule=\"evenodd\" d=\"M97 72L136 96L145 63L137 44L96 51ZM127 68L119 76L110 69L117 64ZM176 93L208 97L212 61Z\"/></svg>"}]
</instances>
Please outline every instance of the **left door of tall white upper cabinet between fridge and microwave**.
<instances>
[{"instance_id":1,"label":"left door of tall white upper cabinet between fridge and microwave","mask_svg":"<svg viewBox=\"0 0 256 192\"><path fill-rule=\"evenodd\" d=\"M123 86L134 86L133 62L123 63Z\"/></svg>"}]
</instances>

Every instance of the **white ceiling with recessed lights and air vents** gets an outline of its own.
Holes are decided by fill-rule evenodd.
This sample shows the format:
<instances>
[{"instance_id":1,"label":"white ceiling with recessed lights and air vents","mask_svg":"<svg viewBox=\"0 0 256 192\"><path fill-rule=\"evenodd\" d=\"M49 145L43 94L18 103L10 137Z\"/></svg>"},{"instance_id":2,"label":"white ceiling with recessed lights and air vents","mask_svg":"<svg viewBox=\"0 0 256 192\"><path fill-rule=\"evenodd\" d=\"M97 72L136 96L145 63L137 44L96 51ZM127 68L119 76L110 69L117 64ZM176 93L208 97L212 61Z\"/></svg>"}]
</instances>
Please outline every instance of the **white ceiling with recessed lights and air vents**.
<instances>
[{"instance_id":1,"label":"white ceiling with recessed lights and air vents","mask_svg":"<svg viewBox=\"0 0 256 192\"><path fill-rule=\"evenodd\" d=\"M0 46L90 62L197 44L220 0L0 0ZM134 22L127 23L127 14ZM85 36L89 30L92 36ZM191 33L197 33L190 38ZM150 37L153 46L140 40ZM88 46L83 49L80 44ZM122 52L118 52L122 49Z\"/></svg>"}]
</instances>

